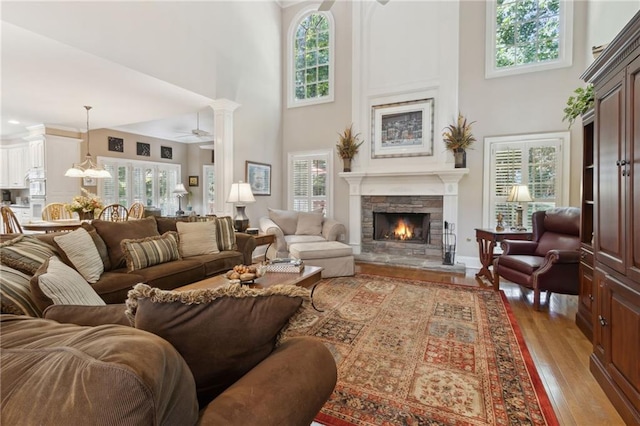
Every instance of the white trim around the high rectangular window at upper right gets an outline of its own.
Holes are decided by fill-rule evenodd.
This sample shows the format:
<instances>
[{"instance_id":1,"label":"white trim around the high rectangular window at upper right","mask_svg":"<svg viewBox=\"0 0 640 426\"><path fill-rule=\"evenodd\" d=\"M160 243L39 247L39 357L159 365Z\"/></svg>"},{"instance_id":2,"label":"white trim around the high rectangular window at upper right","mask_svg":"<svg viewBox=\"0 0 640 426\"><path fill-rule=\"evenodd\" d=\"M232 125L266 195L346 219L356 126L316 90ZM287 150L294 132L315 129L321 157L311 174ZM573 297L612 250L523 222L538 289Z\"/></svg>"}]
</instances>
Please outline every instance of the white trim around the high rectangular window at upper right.
<instances>
[{"instance_id":1,"label":"white trim around the high rectangular window at upper right","mask_svg":"<svg viewBox=\"0 0 640 426\"><path fill-rule=\"evenodd\" d=\"M560 50L554 61L518 65L508 68L496 67L496 0L488 0L486 7L485 78L525 74L536 71L570 67L573 63L573 1L560 0Z\"/></svg>"}]
</instances>

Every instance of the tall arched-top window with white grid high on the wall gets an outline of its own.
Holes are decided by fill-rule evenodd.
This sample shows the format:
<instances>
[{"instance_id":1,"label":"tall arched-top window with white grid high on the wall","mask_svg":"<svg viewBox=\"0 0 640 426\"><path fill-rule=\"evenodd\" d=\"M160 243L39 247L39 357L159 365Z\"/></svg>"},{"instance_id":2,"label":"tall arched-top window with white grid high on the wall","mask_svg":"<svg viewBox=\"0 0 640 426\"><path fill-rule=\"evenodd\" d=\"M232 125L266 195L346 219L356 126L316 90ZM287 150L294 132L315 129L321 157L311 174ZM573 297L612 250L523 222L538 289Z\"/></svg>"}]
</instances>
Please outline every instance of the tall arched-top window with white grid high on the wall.
<instances>
[{"instance_id":1,"label":"tall arched-top window with white grid high on the wall","mask_svg":"<svg viewBox=\"0 0 640 426\"><path fill-rule=\"evenodd\" d=\"M330 12L302 11L288 38L288 106L333 101L334 24Z\"/></svg>"}]
</instances>

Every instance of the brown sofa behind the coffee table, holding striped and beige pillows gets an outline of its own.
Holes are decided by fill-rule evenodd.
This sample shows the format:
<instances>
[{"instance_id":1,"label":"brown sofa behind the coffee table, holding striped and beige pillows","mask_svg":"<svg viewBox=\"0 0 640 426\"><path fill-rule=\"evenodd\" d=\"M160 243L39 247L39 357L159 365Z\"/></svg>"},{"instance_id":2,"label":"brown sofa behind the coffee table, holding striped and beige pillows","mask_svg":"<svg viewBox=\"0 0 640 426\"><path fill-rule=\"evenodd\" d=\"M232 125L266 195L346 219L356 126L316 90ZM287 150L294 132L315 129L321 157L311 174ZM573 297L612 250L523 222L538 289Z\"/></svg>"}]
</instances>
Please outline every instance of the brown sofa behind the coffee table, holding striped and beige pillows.
<instances>
[{"instance_id":1,"label":"brown sofa behind the coffee table, holding striped and beige pillows","mask_svg":"<svg viewBox=\"0 0 640 426\"><path fill-rule=\"evenodd\" d=\"M208 276L218 275L234 265L250 264L255 240L247 234L236 234L236 250L224 250L216 254L185 257L148 268L128 272L120 243L124 239L141 239L176 231L176 219L154 216L126 222L94 220L83 227L93 237L105 264L105 272L92 287L106 303L123 303L127 293L137 283L147 283L163 290L181 287ZM54 245L56 234L40 234L38 238ZM36 303L41 309L52 302L44 294L38 294Z\"/></svg>"}]
</instances>

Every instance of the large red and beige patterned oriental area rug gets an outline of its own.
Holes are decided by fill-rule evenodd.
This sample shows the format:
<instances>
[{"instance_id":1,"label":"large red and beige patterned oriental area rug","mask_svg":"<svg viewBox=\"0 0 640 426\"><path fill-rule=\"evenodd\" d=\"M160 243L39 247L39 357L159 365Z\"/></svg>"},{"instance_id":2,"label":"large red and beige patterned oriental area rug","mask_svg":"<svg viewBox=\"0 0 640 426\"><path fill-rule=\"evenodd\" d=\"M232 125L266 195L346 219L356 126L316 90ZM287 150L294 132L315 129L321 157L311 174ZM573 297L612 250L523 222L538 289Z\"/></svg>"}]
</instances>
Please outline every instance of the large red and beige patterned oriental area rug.
<instances>
[{"instance_id":1,"label":"large red and beige patterned oriental area rug","mask_svg":"<svg viewBox=\"0 0 640 426\"><path fill-rule=\"evenodd\" d=\"M289 336L322 339L324 425L557 425L502 292L371 275L323 280Z\"/></svg>"}]
</instances>

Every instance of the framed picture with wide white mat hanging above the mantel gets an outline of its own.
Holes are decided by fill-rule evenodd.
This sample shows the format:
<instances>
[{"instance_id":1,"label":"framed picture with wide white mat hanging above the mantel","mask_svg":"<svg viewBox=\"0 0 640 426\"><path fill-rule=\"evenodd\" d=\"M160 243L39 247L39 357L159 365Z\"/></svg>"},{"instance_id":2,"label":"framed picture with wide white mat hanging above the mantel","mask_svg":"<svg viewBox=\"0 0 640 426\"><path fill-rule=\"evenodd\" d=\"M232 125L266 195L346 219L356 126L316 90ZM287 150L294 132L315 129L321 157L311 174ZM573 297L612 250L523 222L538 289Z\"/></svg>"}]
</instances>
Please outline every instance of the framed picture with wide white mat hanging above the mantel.
<instances>
[{"instance_id":1,"label":"framed picture with wide white mat hanging above the mantel","mask_svg":"<svg viewBox=\"0 0 640 426\"><path fill-rule=\"evenodd\" d=\"M433 155L433 98L371 108L371 158Z\"/></svg>"}]
</instances>

